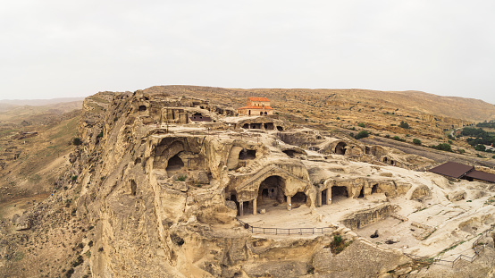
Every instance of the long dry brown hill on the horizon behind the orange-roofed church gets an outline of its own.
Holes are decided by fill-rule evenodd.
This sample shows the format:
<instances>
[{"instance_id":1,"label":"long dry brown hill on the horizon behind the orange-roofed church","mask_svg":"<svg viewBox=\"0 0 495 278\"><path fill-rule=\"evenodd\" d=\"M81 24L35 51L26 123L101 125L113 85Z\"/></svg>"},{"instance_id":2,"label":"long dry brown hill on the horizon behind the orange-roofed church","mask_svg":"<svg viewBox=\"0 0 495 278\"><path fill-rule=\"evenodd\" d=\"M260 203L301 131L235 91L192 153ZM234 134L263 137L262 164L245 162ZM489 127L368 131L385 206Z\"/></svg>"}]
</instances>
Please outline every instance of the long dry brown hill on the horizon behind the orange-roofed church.
<instances>
[{"instance_id":1,"label":"long dry brown hill on the horizon behind the orange-roofed church","mask_svg":"<svg viewBox=\"0 0 495 278\"><path fill-rule=\"evenodd\" d=\"M198 86L155 86L145 92L163 91L172 95L188 95L219 100L224 104L244 105L246 97L268 97L273 107L286 111L298 107L303 112L314 110L324 114L331 108L338 114L351 116L359 113L430 114L470 122L495 120L495 105L479 99L465 97L440 97L421 91L378 91L370 89L327 88L212 88ZM317 109L315 109L317 108ZM335 111L339 110L339 111ZM340 117L341 118L341 117Z\"/></svg>"}]
</instances>

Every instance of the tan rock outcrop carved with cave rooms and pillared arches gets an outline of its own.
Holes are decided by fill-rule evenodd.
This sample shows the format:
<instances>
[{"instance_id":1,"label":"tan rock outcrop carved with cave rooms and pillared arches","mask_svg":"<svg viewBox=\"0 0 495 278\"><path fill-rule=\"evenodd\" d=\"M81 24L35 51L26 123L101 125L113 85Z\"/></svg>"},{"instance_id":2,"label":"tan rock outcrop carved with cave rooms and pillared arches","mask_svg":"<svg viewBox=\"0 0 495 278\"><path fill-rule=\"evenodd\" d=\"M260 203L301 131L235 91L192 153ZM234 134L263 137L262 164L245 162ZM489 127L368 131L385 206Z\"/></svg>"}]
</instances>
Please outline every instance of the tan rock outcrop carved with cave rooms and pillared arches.
<instances>
[{"instance_id":1,"label":"tan rock outcrop carved with cave rooms and pillared arches","mask_svg":"<svg viewBox=\"0 0 495 278\"><path fill-rule=\"evenodd\" d=\"M56 225L50 227L47 219L56 215L63 216L60 224L81 228L72 230L72 251L86 257L78 257L64 274L424 274L422 265L398 248L381 248L357 230L392 215L407 222L396 214L420 211L434 194L445 203L450 191L461 192L450 190L446 180L439 179L442 188L433 186L430 176L411 171L431 166L431 160L342 134L299 129L277 115L235 117L228 105L179 96L180 90L169 94L171 89L88 97L79 124L83 144L69 156L70 171L60 181L66 189L16 218L21 229L29 224L40 232L54 233ZM207 121L195 121L203 116ZM398 200L390 202L394 198ZM402 208L402 203L417 207ZM287 223L276 230L279 218ZM0 233L8 230L0 228ZM428 244L436 244L432 242ZM0 255L13 254L11 245L0 241ZM480 264L486 267L477 273L489 273L490 264Z\"/></svg>"}]
</instances>

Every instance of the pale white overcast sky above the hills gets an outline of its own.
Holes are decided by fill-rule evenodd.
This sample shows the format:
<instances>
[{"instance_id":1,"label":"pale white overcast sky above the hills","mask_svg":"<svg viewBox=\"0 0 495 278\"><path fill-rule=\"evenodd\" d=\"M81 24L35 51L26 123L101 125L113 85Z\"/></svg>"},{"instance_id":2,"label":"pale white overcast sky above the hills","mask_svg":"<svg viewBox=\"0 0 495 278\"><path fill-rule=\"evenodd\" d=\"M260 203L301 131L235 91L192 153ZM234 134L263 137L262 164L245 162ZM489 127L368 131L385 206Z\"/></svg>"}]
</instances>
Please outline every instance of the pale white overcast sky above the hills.
<instances>
[{"instance_id":1,"label":"pale white overcast sky above the hills","mask_svg":"<svg viewBox=\"0 0 495 278\"><path fill-rule=\"evenodd\" d=\"M155 85L422 90L495 104L495 1L6 1L0 99Z\"/></svg>"}]
</instances>

